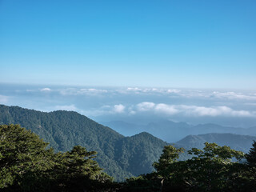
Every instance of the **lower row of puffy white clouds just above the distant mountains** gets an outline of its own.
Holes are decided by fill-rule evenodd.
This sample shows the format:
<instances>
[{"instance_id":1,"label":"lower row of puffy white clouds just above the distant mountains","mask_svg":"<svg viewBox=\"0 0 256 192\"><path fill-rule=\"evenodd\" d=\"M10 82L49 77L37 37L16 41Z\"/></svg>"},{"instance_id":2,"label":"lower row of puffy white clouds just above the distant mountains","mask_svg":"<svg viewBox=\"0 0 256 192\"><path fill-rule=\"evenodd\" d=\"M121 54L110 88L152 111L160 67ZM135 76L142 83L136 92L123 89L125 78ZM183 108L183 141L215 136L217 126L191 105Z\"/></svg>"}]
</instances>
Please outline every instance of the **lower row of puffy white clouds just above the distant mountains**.
<instances>
[{"instance_id":1,"label":"lower row of puffy white clouds just above the distant mountains","mask_svg":"<svg viewBox=\"0 0 256 192\"><path fill-rule=\"evenodd\" d=\"M137 105L124 106L116 104L114 106L105 105L90 110L78 110L76 106L55 106L56 110L74 110L82 114L97 117L101 115L139 115L143 113L151 113L159 116L180 117L256 117L256 111L234 110L228 106L190 106L190 105L169 105L166 103L140 102ZM127 110L126 110L127 109Z\"/></svg>"}]
</instances>

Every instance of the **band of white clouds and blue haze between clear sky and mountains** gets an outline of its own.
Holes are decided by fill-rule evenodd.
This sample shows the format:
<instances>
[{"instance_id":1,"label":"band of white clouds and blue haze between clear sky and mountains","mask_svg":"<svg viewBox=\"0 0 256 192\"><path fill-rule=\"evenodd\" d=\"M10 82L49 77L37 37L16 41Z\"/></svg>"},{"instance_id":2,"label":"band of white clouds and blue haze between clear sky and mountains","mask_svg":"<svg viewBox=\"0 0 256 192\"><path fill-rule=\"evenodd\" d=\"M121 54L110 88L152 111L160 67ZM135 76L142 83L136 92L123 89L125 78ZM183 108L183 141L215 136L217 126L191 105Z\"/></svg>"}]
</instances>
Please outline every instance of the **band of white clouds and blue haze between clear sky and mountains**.
<instances>
[{"instance_id":1,"label":"band of white clouds and blue haze between clear sky and mountains","mask_svg":"<svg viewBox=\"0 0 256 192\"><path fill-rule=\"evenodd\" d=\"M148 123L168 119L191 124L256 126L256 90L7 84L0 87L1 104L42 111L74 110L98 122Z\"/></svg>"}]
</instances>

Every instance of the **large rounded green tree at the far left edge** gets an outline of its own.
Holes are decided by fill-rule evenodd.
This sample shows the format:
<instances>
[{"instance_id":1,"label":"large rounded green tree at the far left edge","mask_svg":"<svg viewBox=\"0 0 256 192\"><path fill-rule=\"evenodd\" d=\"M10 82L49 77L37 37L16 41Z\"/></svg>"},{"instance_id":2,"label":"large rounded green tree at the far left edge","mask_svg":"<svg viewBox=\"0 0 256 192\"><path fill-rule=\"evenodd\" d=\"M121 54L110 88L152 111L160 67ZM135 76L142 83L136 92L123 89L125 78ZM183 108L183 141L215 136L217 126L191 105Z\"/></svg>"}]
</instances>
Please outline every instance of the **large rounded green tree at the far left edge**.
<instances>
[{"instance_id":1,"label":"large rounded green tree at the far left edge","mask_svg":"<svg viewBox=\"0 0 256 192\"><path fill-rule=\"evenodd\" d=\"M0 188L45 188L47 171L54 165L50 161L53 150L46 150L47 145L36 134L18 125L0 126Z\"/></svg>"}]
</instances>

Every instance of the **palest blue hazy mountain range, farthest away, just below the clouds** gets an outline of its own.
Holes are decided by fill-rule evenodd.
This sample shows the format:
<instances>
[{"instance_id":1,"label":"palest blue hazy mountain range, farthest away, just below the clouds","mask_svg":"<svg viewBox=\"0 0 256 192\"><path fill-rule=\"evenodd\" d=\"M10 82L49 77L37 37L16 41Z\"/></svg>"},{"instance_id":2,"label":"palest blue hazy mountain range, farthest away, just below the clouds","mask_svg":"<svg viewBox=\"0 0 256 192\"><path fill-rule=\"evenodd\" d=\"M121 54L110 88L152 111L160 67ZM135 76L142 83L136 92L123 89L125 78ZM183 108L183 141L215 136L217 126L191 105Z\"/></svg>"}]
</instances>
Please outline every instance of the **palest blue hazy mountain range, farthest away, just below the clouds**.
<instances>
[{"instance_id":1,"label":"palest blue hazy mountain range, farthest away, just below the clouds","mask_svg":"<svg viewBox=\"0 0 256 192\"><path fill-rule=\"evenodd\" d=\"M172 122L167 120L150 122L147 125L138 125L122 121L102 122L102 124L110 126L112 129L117 130L118 133L124 135L133 135L146 131L166 142L177 142L190 134L230 133L256 136L256 126L248 129L219 126L211 123L192 126L186 122Z\"/></svg>"}]
</instances>

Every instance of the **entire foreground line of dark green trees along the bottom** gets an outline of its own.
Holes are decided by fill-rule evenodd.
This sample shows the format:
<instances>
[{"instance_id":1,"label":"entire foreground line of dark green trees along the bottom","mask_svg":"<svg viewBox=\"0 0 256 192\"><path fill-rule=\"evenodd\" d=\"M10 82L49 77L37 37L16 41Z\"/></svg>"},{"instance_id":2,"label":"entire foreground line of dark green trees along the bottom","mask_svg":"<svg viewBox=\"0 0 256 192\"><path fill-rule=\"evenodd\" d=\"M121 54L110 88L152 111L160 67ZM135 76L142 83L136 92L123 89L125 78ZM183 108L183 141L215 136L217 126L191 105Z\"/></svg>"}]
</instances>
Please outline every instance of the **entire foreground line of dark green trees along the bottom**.
<instances>
[{"instance_id":1,"label":"entire foreground line of dark green trees along the bottom","mask_svg":"<svg viewBox=\"0 0 256 192\"><path fill-rule=\"evenodd\" d=\"M0 126L1 191L254 191L256 142L248 154L205 143L188 151L164 146L154 171L113 182L82 146L55 153L37 134L18 125ZM242 161L244 160L244 161ZM140 159L137 159L140 161Z\"/></svg>"}]
</instances>

